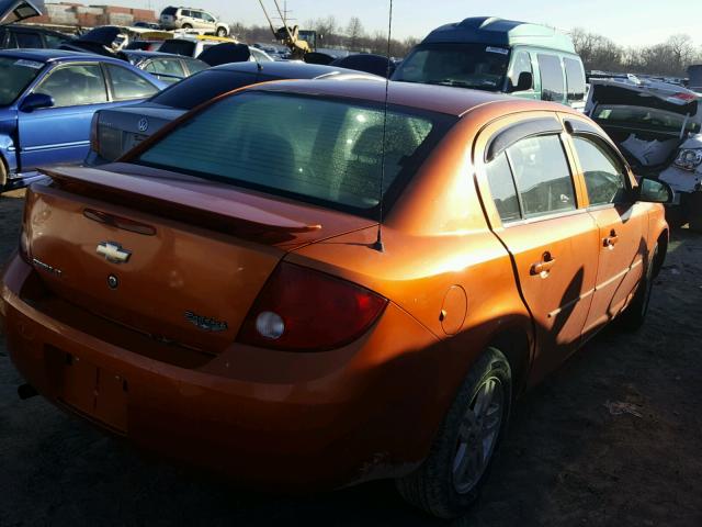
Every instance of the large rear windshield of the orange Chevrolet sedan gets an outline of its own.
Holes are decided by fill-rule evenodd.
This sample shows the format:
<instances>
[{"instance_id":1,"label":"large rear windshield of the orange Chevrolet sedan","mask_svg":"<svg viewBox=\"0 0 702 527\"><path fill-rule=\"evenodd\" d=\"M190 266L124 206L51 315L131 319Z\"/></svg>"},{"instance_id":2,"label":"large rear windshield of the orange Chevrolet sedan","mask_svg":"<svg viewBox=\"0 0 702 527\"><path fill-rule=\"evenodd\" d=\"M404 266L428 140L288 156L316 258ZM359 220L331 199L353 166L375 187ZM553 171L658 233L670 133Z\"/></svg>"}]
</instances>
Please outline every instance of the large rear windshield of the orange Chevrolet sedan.
<instances>
[{"instance_id":1,"label":"large rear windshield of the orange Chevrolet sedan","mask_svg":"<svg viewBox=\"0 0 702 527\"><path fill-rule=\"evenodd\" d=\"M392 106L248 92L192 116L136 162L376 217L452 117ZM454 117L453 117L454 119Z\"/></svg>"}]
</instances>

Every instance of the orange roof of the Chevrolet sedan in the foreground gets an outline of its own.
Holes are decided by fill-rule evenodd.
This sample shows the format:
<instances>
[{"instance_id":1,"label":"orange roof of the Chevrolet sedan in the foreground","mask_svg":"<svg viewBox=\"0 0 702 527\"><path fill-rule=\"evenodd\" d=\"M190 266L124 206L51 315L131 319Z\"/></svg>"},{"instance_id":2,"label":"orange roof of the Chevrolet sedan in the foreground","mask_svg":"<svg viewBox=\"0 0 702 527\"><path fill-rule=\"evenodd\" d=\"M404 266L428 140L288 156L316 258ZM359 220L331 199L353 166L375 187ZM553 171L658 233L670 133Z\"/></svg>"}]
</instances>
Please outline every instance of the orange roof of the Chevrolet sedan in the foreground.
<instances>
[{"instance_id":1,"label":"orange roof of the Chevrolet sedan in the foreground","mask_svg":"<svg viewBox=\"0 0 702 527\"><path fill-rule=\"evenodd\" d=\"M489 103L507 103L511 106L513 106L514 103L519 103L521 110L568 111L568 109L562 104L529 101L466 88L397 81L389 81L387 86L387 101L389 104L444 113L458 117L475 108ZM327 96L330 98L348 98L376 103L383 103L385 101L385 82L363 80L283 80L253 85L247 88L246 91Z\"/></svg>"}]
</instances>

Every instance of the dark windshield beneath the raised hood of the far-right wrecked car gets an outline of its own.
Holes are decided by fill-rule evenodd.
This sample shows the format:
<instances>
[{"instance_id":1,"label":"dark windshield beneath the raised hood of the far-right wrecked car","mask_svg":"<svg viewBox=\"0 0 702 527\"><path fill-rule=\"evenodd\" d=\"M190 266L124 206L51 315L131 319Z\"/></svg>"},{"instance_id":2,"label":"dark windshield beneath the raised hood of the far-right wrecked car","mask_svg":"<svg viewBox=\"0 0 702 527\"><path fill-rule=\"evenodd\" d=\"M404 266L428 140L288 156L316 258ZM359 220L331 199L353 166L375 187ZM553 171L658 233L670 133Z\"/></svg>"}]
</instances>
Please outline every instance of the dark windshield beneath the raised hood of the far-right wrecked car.
<instances>
[{"instance_id":1,"label":"dark windshield beneath the raised hood of the far-right wrecked car","mask_svg":"<svg viewBox=\"0 0 702 527\"><path fill-rule=\"evenodd\" d=\"M700 123L695 120L657 108L600 104L595 109L592 117L604 126L669 132L676 135L682 132L683 126L686 132L700 132Z\"/></svg>"}]
</instances>

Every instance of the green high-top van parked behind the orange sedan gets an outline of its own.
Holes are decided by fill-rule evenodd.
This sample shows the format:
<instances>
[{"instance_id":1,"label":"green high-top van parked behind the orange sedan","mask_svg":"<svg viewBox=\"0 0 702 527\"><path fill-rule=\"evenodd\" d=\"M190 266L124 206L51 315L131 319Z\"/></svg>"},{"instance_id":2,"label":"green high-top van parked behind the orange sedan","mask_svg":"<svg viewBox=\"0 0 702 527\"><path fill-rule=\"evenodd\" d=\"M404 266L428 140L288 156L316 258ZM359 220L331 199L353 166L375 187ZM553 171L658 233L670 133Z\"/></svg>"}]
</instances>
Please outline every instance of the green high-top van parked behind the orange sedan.
<instances>
[{"instance_id":1,"label":"green high-top van parked behind the orange sedan","mask_svg":"<svg viewBox=\"0 0 702 527\"><path fill-rule=\"evenodd\" d=\"M573 41L545 25L472 18L432 31L393 80L510 93L585 108L582 60Z\"/></svg>"}]
</instances>

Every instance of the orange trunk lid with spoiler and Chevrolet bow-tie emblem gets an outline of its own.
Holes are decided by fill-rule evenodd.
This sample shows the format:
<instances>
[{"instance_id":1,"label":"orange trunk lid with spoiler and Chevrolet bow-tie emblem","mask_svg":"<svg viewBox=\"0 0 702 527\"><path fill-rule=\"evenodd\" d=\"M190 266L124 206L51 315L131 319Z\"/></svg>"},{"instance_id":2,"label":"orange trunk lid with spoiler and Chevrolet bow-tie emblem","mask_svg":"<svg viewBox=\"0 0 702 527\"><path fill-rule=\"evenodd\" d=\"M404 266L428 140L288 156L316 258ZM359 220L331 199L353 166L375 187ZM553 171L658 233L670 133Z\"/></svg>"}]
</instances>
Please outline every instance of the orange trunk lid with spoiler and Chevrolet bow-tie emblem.
<instances>
[{"instance_id":1,"label":"orange trunk lid with spoiler and Chevrolet bow-tie emblem","mask_svg":"<svg viewBox=\"0 0 702 527\"><path fill-rule=\"evenodd\" d=\"M138 168L47 170L27 193L30 258L64 301L206 352L236 339L288 250L373 224Z\"/></svg>"}]
</instances>

